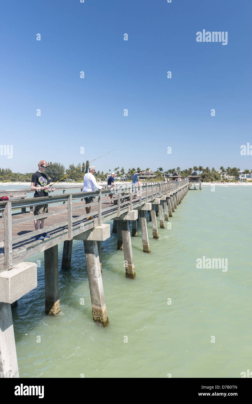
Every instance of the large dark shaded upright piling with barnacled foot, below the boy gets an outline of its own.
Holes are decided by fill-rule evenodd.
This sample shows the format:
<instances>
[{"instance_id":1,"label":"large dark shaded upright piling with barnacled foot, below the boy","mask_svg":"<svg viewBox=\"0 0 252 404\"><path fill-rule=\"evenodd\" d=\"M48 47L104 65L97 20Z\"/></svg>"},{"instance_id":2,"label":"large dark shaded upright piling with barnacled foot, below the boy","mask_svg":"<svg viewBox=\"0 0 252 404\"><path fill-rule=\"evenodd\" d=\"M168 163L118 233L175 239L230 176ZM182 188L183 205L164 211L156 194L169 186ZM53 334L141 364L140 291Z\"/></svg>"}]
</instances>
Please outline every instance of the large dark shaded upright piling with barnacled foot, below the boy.
<instances>
[{"instance_id":1,"label":"large dark shaded upright piling with barnacled foot, below the boy","mask_svg":"<svg viewBox=\"0 0 252 404\"><path fill-rule=\"evenodd\" d=\"M45 312L46 314L59 313L59 263L58 244L44 250L45 270Z\"/></svg>"}]
</instances>

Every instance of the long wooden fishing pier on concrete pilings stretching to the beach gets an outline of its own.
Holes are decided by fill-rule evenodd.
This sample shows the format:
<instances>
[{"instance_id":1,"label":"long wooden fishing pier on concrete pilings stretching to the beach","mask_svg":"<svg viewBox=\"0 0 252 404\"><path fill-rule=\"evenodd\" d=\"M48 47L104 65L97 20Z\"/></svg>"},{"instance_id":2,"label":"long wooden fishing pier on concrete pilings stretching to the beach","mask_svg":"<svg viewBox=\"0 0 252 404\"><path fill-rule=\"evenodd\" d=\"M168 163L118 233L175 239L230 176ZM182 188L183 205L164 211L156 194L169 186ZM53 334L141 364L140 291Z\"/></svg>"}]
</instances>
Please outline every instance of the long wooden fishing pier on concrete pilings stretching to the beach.
<instances>
[{"instance_id":1,"label":"long wooden fishing pier on concrete pilings stretching to the beach","mask_svg":"<svg viewBox=\"0 0 252 404\"><path fill-rule=\"evenodd\" d=\"M115 183L116 185L116 183ZM158 239L157 217L160 228L175 212L192 183L171 181L168 183L124 183L111 190L90 193L74 192L59 187L63 193L44 198L27 198L27 190L5 191L10 200L0 202L0 377L19 377L11 306L37 286L37 265L26 262L27 258L44 251L45 311L55 315L60 311L58 244L64 242L62 269L70 269L73 240L82 240L86 256L86 267L94 321L105 326L108 323L102 283L101 243L117 233L118 249L124 252L127 278L136 276L130 235L137 236L136 221L139 218L143 241L143 252L150 253L147 231L147 211L152 224L153 239ZM80 189L82 190L82 189ZM113 198L107 199L113 193ZM1 192L1 196L4 192ZM94 202L85 204L83 198L95 196ZM136 199L135 199L136 196ZM107 202L113 204L107 205ZM35 205L48 204L48 213L33 215ZM91 206L86 214L85 207ZM92 219L88 219L92 215ZM45 219L43 230L34 230L34 219ZM42 232L50 238L36 240Z\"/></svg>"}]
</instances>

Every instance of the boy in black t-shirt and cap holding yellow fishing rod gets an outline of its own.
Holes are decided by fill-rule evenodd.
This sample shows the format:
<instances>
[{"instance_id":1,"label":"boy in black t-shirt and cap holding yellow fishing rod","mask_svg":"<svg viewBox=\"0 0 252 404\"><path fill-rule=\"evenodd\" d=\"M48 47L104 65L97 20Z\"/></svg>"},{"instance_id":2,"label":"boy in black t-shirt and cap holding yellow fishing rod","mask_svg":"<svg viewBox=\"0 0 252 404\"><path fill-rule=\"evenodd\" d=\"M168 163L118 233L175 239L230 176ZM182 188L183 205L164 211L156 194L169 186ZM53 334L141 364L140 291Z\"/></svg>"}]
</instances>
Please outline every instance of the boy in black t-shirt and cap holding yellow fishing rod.
<instances>
[{"instance_id":1,"label":"boy in black t-shirt and cap holding yellow fishing rod","mask_svg":"<svg viewBox=\"0 0 252 404\"><path fill-rule=\"evenodd\" d=\"M48 166L45 160L41 160L38 163L38 171L31 177L31 191L35 191L34 198L41 198L42 196L48 196L49 179L45 174ZM48 213L48 204L34 206L34 216ZM45 219L45 218L44 218ZM34 220L35 229L43 229L44 219ZM44 237L50 237L47 233L38 234L35 236L36 240L44 240Z\"/></svg>"}]
</instances>

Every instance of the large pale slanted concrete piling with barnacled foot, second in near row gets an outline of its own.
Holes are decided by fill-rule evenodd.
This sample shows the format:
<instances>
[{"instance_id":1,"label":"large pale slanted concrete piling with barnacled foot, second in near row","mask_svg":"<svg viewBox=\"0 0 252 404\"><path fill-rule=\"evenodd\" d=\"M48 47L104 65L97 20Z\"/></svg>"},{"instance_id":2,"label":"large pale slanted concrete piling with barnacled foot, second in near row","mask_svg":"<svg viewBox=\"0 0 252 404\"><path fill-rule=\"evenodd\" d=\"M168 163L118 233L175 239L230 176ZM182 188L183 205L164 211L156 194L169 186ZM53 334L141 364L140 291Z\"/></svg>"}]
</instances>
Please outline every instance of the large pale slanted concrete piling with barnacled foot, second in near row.
<instances>
[{"instance_id":1,"label":"large pale slanted concrete piling with barnacled foot, second in near row","mask_svg":"<svg viewBox=\"0 0 252 404\"><path fill-rule=\"evenodd\" d=\"M103 326L106 326L109 319L105 305L97 241L83 242L86 257L86 267L88 271L88 283L92 303L93 320Z\"/></svg>"}]
</instances>

